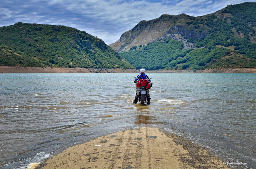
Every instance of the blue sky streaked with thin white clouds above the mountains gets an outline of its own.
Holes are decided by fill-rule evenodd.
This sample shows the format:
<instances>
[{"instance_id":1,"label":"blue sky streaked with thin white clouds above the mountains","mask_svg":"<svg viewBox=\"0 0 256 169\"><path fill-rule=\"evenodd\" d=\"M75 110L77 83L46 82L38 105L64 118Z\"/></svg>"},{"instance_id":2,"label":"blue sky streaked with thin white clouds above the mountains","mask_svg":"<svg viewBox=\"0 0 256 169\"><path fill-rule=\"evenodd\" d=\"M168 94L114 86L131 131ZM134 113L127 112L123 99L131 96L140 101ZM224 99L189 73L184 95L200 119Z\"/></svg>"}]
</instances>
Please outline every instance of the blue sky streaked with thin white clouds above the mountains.
<instances>
[{"instance_id":1,"label":"blue sky streaked with thin white clouds above the mountains","mask_svg":"<svg viewBox=\"0 0 256 169\"><path fill-rule=\"evenodd\" d=\"M110 44L142 20L162 14L203 16L243 2L256 0L0 0L0 27L17 22L63 25Z\"/></svg>"}]
</instances>

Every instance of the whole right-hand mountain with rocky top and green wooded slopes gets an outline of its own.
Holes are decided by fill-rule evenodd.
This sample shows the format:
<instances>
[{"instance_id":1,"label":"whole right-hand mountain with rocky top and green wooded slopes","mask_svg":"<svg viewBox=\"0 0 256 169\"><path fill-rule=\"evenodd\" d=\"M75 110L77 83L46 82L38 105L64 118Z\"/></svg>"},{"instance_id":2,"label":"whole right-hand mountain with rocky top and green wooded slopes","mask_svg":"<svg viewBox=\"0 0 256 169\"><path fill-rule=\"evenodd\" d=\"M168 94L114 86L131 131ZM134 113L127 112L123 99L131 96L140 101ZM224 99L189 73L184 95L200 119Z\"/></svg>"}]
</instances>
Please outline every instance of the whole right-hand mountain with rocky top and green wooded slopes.
<instances>
[{"instance_id":1,"label":"whole right-hand mountain with rocky top and green wooded slopes","mask_svg":"<svg viewBox=\"0 0 256 169\"><path fill-rule=\"evenodd\" d=\"M137 68L253 68L255 31L256 3L246 2L205 16L162 15L141 21L110 46Z\"/></svg>"}]
</instances>

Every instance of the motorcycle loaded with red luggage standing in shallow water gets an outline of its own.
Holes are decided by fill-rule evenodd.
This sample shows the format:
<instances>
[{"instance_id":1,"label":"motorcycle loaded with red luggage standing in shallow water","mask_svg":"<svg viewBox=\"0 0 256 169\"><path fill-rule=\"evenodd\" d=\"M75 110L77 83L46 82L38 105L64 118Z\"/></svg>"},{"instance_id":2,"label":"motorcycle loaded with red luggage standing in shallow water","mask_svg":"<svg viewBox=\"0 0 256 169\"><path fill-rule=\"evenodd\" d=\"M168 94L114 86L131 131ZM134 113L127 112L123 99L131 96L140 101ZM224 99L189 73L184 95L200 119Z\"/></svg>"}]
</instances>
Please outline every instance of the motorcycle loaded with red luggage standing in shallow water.
<instances>
[{"instance_id":1,"label":"motorcycle loaded with red luggage standing in shallow water","mask_svg":"<svg viewBox=\"0 0 256 169\"><path fill-rule=\"evenodd\" d=\"M134 78L136 79L136 77ZM149 104L149 89L152 87L153 83L148 82L146 79L140 79L139 81L134 81L134 83L136 83L136 96L134 100L138 99L138 101L141 101L141 104L145 104L145 102ZM137 101L134 103L137 103Z\"/></svg>"}]
</instances>

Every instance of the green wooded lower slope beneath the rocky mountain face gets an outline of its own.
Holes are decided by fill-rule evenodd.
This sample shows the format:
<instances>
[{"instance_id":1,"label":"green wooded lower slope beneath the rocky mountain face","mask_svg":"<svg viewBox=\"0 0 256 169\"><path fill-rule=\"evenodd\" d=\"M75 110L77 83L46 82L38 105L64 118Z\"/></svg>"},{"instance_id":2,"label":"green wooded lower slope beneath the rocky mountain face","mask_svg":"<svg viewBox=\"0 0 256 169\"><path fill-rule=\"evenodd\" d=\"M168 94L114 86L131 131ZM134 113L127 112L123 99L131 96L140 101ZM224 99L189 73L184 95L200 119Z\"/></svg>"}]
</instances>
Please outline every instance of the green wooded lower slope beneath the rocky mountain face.
<instances>
[{"instance_id":1,"label":"green wooded lower slope beneath the rocky mountain face","mask_svg":"<svg viewBox=\"0 0 256 169\"><path fill-rule=\"evenodd\" d=\"M213 49L182 49L183 42L165 39L148 43L144 47L134 47L121 56L136 69L223 69L255 68L255 57L249 57L238 51L215 47ZM226 60L226 58L229 58ZM235 58L235 59L234 59Z\"/></svg>"}]
</instances>

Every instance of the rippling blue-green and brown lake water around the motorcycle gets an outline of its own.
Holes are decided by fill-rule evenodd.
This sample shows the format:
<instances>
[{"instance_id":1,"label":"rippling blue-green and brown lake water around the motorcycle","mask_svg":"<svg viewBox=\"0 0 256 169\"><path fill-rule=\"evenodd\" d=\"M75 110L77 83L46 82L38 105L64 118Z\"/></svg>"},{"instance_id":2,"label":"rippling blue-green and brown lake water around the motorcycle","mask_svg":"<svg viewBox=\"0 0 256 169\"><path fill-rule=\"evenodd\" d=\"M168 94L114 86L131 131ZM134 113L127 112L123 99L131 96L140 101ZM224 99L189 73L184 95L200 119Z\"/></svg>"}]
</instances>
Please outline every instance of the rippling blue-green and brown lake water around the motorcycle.
<instances>
[{"instance_id":1,"label":"rippling blue-green and brown lake water around the motorcycle","mask_svg":"<svg viewBox=\"0 0 256 169\"><path fill-rule=\"evenodd\" d=\"M144 126L243 163L233 168L256 168L256 74L147 73L150 106L132 104L136 75L0 74L0 168Z\"/></svg>"}]
</instances>

